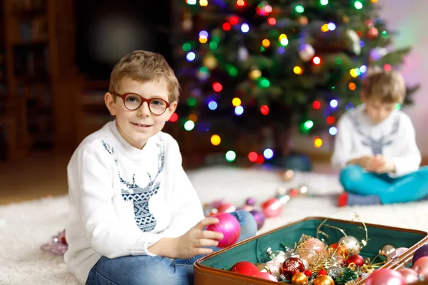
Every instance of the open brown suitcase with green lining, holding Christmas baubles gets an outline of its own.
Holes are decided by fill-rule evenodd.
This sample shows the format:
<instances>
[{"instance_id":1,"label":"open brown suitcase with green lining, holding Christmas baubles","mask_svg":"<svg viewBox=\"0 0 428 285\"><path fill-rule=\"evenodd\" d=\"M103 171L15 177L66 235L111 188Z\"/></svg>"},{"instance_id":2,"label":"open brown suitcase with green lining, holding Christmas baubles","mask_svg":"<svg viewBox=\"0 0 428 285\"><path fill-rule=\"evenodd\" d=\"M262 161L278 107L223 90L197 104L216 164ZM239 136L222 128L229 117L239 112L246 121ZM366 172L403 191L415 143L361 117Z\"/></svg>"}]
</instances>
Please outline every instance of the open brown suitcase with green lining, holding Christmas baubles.
<instances>
[{"instance_id":1,"label":"open brown suitcase with green lining, holding Christmas baubles","mask_svg":"<svg viewBox=\"0 0 428 285\"><path fill-rule=\"evenodd\" d=\"M195 284L196 285L236 285L236 284L275 284L275 282L258 279L251 276L237 274L235 272L223 270L230 268L238 261L250 261L254 264L267 261L265 250L271 247L272 250L281 250L281 242L297 242L302 234L317 236L317 228L326 217L308 217L284 227L273 229L265 234L246 239L243 242L222 249L206 257L195 261ZM333 227L344 229L347 235L357 239L365 239L365 229L361 222L350 222L340 219L328 219L326 224L332 227L322 226L322 232L325 232L330 241L325 236L319 236L326 239L329 244L337 242L343 234ZM399 256L409 259L409 256L422 244L428 242L428 233L412 230L400 229L397 227L386 227L377 224L365 224L369 242L360 253L362 257L373 259L379 253L379 249L384 244L393 244L394 247L407 247L406 252ZM400 265L397 262L389 261L381 268L395 269ZM401 265L404 266L404 265ZM277 284L277 283L276 283ZM364 279L356 284L364 284ZM422 284L422 283L421 283Z\"/></svg>"}]
</instances>

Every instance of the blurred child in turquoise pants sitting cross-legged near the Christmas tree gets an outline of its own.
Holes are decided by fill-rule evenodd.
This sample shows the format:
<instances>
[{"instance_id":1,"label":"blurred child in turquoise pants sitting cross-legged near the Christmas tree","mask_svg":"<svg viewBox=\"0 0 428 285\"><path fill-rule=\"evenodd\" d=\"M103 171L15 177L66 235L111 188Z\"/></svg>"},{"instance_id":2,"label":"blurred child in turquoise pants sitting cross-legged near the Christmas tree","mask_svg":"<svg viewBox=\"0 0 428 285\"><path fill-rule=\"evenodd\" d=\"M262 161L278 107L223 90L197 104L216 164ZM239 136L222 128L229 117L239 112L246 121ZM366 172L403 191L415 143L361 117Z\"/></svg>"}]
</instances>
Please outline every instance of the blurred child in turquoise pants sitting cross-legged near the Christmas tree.
<instances>
[{"instance_id":1,"label":"blurred child in turquoise pants sitting cross-legged near the Christmas tree","mask_svg":"<svg viewBox=\"0 0 428 285\"><path fill-rule=\"evenodd\" d=\"M428 168L419 168L421 154L410 118L400 110L404 79L396 71L365 78L362 105L337 122L332 165L342 170L345 193L338 206L392 204L428 195Z\"/></svg>"}]
</instances>

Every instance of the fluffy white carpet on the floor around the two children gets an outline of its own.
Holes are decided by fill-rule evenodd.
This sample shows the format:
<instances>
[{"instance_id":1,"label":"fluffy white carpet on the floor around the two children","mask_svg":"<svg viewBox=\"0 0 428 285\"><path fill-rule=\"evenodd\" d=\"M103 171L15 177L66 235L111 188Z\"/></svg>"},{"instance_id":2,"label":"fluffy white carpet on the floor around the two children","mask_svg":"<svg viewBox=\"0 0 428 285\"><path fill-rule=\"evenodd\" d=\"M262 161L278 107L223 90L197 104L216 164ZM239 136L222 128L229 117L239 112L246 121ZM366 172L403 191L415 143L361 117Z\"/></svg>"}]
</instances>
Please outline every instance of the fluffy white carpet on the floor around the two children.
<instances>
[{"instance_id":1,"label":"fluffy white carpet on the floor around the two children","mask_svg":"<svg viewBox=\"0 0 428 285\"><path fill-rule=\"evenodd\" d=\"M278 187L305 184L312 195L288 202L281 217L267 219L260 232L310 216L352 219L357 212L364 222L428 232L428 202L378 207L352 207L337 211L330 195L341 192L337 177L297 173L283 182L276 172L212 167L189 172L202 202L225 199L240 206L246 198L258 202L272 197ZM40 246L60 232L66 224L66 196L50 197L0 207L0 284L78 284L68 274L62 257L41 252Z\"/></svg>"}]
</instances>

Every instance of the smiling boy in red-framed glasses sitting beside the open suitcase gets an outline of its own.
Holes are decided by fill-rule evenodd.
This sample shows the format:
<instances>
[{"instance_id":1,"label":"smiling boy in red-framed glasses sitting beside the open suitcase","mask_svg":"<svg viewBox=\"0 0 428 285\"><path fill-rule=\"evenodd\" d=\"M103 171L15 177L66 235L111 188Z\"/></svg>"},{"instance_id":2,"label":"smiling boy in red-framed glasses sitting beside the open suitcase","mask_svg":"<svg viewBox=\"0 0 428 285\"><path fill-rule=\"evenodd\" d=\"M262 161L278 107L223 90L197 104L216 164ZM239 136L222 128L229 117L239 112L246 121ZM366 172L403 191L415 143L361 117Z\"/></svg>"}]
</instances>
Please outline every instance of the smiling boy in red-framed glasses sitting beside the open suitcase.
<instances>
[{"instance_id":1,"label":"smiling boy in red-framed glasses sitting beside the open suitcase","mask_svg":"<svg viewBox=\"0 0 428 285\"><path fill-rule=\"evenodd\" d=\"M134 51L113 68L105 103L115 120L89 135L68 164L68 251L81 284L193 284L193 262L223 234L204 230L198 195L178 143L161 132L179 85L158 53ZM250 212L231 213L240 239L255 235Z\"/></svg>"}]
</instances>

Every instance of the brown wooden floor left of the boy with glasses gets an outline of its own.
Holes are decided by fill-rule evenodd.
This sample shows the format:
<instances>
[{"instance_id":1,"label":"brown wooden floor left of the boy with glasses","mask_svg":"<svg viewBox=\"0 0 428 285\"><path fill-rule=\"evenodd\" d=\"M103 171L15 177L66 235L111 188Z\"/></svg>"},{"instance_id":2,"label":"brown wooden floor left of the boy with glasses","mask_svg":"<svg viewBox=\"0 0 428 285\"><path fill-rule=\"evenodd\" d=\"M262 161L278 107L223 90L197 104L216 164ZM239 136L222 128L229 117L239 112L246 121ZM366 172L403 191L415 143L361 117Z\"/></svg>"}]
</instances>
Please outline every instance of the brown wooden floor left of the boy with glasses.
<instances>
[{"instance_id":1,"label":"brown wooden floor left of the boy with glasses","mask_svg":"<svg viewBox=\"0 0 428 285\"><path fill-rule=\"evenodd\" d=\"M70 157L36 152L24 160L0 164L0 204L66 194Z\"/></svg>"}]
</instances>

